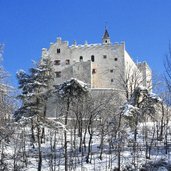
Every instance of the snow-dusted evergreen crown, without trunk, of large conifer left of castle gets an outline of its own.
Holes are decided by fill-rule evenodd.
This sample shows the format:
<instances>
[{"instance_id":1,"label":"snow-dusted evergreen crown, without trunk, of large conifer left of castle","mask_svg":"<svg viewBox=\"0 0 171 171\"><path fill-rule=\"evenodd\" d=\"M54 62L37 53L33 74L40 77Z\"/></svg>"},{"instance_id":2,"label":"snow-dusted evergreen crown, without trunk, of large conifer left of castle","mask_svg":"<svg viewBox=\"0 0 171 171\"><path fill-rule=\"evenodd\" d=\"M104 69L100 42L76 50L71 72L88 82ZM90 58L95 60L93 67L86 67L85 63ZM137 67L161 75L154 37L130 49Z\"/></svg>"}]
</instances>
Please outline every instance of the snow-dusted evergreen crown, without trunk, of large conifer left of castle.
<instances>
[{"instance_id":1,"label":"snow-dusted evergreen crown, without trunk, of large conifer left of castle","mask_svg":"<svg viewBox=\"0 0 171 171\"><path fill-rule=\"evenodd\" d=\"M44 58L40 63L35 64L35 67L30 69L29 74L20 70L17 73L17 78L19 89L21 90L21 94L18 97L21 99L22 105L15 113L16 118L35 115L44 117L53 79L50 60Z\"/></svg>"}]
</instances>

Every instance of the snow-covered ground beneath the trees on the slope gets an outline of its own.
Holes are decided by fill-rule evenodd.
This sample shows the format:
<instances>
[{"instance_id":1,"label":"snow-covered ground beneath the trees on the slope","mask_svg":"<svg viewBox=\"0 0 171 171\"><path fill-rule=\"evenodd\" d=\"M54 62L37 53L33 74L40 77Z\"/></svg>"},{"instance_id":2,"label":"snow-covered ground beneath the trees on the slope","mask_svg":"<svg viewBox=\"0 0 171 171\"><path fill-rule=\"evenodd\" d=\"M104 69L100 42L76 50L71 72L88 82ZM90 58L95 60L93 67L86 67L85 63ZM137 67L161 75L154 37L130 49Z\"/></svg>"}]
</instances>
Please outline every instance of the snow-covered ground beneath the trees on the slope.
<instances>
[{"instance_id":1,"label":"snow-covered ground beneath the trees on the slope","mask_svg":"<svg viewBox=\"0 0 171 171\"><path fill-rule=\"evenodd\" d=\"M124 143L120 140L113 142L112 146L109 146L108 135L104 136L103 155L100 160L100 136L99 132L95 131L91 143L91 163L86 163L87 149L83 150L82 153L78 151L79 148L79 137L73 135L73 130L67 131L67 144L68 144L68 170L75 171L111 171L118 166L118 155L120 155L121 170L126 166L136 164L134 170L138 170L144 163L150 160L157 161L159 159L165 159L171 162L171 136L168 134L167 154L165 154L165 140L156 140L154 138L153 129L156 127L156 123L148 122L146 124L138 125L137 142L134 149L133 139L134 135L130 128L126 141ZM23 168L19 170L23 171L37 171L38 167L38 144L31 143L31 129L29 126L15 128L15 134L11 138L9 143L6 143L4 147L5 163L8 164L8 170L13 170L14 164L22 165ZM51 171L52 167L54 170L63 171L65 170L65 156L64 156L64 130L59 129L58 131L51 130L50 128L45 129L45 142L41 144L41 155L42 155L42 171ZM76 130L77 132L78 130ZM148 134L148 138L145 139L144 131ZM170 131L170 128L169 128ZM36 134L36 132L35 132ZM155 132L157 134L157 132ZM156 137L156 136L155 136ZM89 135L86 136L86 146L88 147ZM75 148L73 147L75 143ZM148 145L147 145L148 144ZM145 157L147 148L151 145L150 159ZM119 151L118 151L119 149ZM135 151L134 151L135 150ZM2 147L1 147L2 153ZM2 156L1 156L2 158ZM24 161L25 160L25 161ZM25 165L24 163L27 163ZM10 167L9 167L10 165ZM158 168L159 169L159 168ZM162 168L160 168L162 169ZM129 169L127 169L129 170ZM130 168L131 170L131 168ZM133 170L133 169L132 169Z\"/></svg>"}]
</instances>

